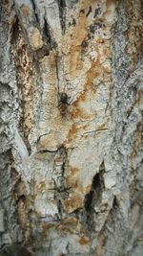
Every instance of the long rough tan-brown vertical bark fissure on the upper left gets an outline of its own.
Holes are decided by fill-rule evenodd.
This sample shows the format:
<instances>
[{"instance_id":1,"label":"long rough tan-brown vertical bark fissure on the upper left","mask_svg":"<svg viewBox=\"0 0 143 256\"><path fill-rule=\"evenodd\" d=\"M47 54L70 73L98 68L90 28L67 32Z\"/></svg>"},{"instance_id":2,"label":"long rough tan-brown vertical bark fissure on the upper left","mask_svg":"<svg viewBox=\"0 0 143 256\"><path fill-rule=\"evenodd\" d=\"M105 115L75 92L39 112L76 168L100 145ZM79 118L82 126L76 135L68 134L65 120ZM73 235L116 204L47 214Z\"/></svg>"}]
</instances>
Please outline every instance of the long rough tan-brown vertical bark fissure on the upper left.
<instances>
[{"instance_id":1,"label":"long rough tan-brown vertical bark fissure on the upper left","mask_svg":"<svg viewBox=\"0 0 143 256\"><path fill-rule=\"evenodd\" d=\"M23 140L27 146L28 151L31 153L31 144L29 135L32 128L32 108L33 108L33 94L34 89L32 86L33 79L33 62L31 58L30 49L25 42L22 32L19 28L18 19L15 20L11 44L13 50L13 59L16 71L16 81L21 96L21 110L19 128L23 135ZM31 99L31 101L30 101Z\"/></svg>"}]
</instances>

